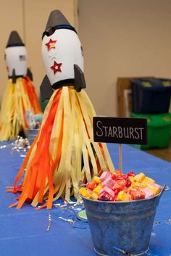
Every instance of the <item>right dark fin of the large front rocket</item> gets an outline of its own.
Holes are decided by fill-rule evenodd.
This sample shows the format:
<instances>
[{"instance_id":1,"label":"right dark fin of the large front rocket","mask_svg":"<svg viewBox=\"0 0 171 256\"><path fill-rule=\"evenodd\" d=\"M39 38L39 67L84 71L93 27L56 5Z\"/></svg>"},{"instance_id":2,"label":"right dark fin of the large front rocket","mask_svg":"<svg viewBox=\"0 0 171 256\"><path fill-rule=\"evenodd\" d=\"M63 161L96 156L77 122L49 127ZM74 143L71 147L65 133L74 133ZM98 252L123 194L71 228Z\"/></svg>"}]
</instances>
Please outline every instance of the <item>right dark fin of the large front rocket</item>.
<instances>
[{"instance_id":1,"label":"right dark fin of the large front rocket","mask_svg":"<svg viewBox=\"0 0 171 256\"><path fill-rule=\"evenodd\" d=\"M74 88L76 91L80 92L81 89L86 88L86 80L84 78L83 71L76 64L74 65L74 76L75 76Z\"/></svg>"}]
</instances>

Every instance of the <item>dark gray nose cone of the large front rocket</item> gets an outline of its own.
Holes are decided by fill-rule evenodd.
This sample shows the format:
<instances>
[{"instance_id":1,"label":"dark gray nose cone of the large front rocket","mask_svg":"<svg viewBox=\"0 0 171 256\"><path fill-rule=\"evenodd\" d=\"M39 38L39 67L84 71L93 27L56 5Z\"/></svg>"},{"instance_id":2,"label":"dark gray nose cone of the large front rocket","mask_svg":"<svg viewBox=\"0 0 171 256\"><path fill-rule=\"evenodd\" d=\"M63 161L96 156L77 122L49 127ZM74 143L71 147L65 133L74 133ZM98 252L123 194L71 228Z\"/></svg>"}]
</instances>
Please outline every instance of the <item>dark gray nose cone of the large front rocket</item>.
<instances>
[{"instance_id":1,"label":"dark gray nose cone of the large front rocket","mask_svg":"<svg viewBox=\"0 0 171 256\"><path fill-rule=\"evenodd\" d=\"M70 25L70 22L64 17L64 15L62 15L62 12L60 12L58 9L55 9L49 15L49 19L46 24L46 30L49 30L49 28L53 28L57 25Z\"/></svg>"}]
</instances>

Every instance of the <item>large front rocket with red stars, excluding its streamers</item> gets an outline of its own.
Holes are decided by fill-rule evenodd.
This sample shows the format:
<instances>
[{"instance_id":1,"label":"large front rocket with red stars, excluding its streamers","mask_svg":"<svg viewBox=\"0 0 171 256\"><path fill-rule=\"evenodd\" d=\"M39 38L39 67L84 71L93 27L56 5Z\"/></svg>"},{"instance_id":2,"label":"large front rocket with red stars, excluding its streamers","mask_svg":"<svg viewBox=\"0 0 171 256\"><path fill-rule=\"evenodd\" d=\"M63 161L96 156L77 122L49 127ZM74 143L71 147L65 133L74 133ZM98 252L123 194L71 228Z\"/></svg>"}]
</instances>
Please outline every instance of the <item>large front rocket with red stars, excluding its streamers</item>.
<instances>
[{"instance_id":1,"label":"large front rocket with red stars, excluding its streamers","mask_svg":"<svg viewBox=\"0 0 171 256\"><path fill-rule=\"evenodd\" d=\"M76 91L86 88L83 75L83 48L75 28L59 10L49 16L43 32L41 47L46 78L41 84L42 100L49 99L53 89L74 86Z\"/></svg>"}]
</instances>

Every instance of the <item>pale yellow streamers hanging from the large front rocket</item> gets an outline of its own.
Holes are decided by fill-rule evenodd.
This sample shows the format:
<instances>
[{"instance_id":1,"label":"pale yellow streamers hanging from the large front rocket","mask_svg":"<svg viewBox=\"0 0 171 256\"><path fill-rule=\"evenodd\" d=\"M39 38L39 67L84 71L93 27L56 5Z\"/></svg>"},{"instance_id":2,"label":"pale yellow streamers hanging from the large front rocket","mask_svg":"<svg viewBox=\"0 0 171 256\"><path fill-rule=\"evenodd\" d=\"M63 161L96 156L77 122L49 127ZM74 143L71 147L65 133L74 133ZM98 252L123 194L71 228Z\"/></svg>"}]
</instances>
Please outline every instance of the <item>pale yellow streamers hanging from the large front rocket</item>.
<instances>
[{"instance_id":1,"label":"pale yellow streamers hanging from the large front rocket","mask_svg":"<svg viewBox=\"0 0 171 256\"><path fill-rule=\"evenodd\" d=\"M93 116L96 115L93 105L85 91L76 92L73 87L63 87L54 91L46 107L43 122L35 146L30 154L28 169L34 154L38 152L38 141L42 127L46 123L55 96L61 91L57 112L51 130L49 154L54 162L53 183L54 198L63 196L68 201L73 193L78 198L78 181L91 181L93 175L101 170L114 171L112 160L106 144L93 142ZM57 157L60 159L57 161ZM55 164L57 162L57 164ZM42 165L41 165L42 166ZM34 171L34 170L32 170ZM40 170L43 172L43 170ZM27 171L26 171L27 174ZM23 186L26 179L24 178ZM46 178L44 199L49 197L49 182ZM38 193L32 205L38 205Z\"/></svg>"}]
</instances>

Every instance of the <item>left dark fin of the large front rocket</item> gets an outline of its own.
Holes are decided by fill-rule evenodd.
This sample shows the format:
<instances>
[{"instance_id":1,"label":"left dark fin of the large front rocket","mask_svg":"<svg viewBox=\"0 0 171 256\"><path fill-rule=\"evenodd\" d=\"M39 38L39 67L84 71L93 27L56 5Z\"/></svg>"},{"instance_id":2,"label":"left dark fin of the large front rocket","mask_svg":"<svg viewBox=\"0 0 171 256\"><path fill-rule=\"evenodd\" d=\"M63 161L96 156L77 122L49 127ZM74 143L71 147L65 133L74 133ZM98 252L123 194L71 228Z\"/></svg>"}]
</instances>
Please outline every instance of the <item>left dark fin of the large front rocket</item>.
<instances>
[{"instance_id":1,"label":"left dark fin of the large front rocket","mask_svg":"<svg viewBox=\"0 0 171 256\"><path fill-rule=\"evenodd\" d=\"M42 102L45 101L46 99L50 99L51 95L54 92L47 75L45 75L45 77L43 78L43 81L41 82L40 91L41 91Z\"/></svg>"}]
</instances>

